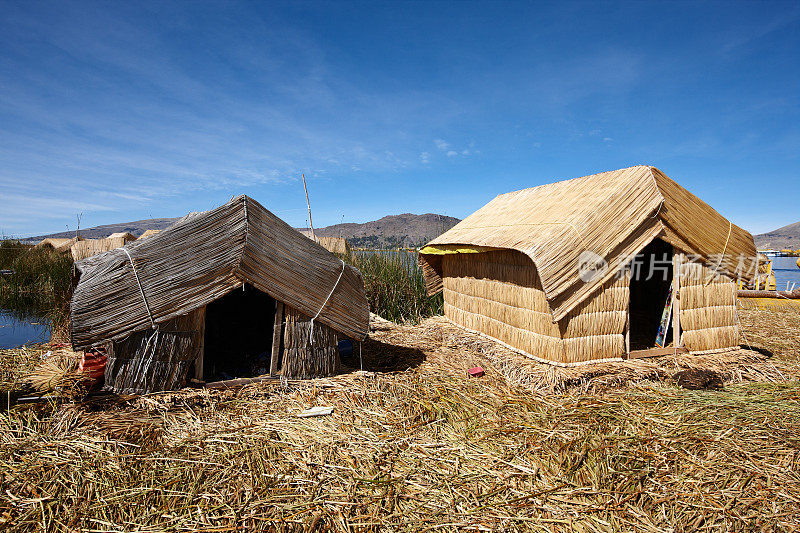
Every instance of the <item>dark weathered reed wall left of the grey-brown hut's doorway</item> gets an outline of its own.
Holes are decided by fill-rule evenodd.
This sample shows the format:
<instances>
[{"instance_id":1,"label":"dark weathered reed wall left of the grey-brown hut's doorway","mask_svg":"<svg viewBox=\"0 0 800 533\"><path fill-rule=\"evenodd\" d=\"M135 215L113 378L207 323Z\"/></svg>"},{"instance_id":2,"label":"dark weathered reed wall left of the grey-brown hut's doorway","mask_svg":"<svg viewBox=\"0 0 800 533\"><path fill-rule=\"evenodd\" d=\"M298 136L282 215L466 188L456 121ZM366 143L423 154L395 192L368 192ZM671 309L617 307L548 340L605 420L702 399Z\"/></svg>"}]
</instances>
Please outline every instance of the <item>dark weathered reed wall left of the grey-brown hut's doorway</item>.
<instances>
[{"instance_id":1,"label":"dark weathered reed wall left of the grey-brown hut's doorway","mask_svg":"<svg viewBox=\"0 0 800 533\"><path fill-rule=\"evenodd\" d=\"M118 394L144 394L183 387L200 355L205 307L173 318L153 330L133 333L108 345L105 388Z\"/></svg>"}]
</instances>

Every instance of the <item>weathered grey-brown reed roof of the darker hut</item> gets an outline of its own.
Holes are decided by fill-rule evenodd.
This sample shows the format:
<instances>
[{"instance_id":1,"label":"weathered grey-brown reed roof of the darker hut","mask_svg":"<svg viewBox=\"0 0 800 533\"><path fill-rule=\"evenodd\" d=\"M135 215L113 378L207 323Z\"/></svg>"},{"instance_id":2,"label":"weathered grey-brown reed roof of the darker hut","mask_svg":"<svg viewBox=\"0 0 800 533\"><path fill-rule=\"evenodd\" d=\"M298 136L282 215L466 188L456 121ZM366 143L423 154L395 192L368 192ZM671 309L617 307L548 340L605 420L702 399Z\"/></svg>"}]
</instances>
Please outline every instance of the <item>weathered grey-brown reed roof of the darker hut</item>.
<instances>
[{"instance_id":1,"label":"weathered grey-brown reed roof of the darker hut","mask_svg":"<svg viewBox=\"0 0 800 533\"><path fill-rule=\"evenodd\" d=\"M245 282L350 337L364 338L369 324L361 274L247 196L76 266L76 349L150 328L147 306L160 324Z\"/></svg>"}]
</instances>

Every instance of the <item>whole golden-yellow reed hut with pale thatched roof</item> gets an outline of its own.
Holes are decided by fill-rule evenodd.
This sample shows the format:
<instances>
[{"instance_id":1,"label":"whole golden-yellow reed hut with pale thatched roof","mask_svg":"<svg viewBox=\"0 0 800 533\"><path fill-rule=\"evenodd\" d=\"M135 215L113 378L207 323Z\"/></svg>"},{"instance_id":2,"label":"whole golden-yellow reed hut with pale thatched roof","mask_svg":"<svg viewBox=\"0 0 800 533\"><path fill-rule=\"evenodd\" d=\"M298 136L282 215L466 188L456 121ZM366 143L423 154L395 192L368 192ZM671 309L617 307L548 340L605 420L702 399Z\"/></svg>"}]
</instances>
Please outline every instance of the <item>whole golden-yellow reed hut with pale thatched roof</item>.
<instances>
[{"instance_id":1,"label":"whole golden-yellow reed hut with pale thatched roof","mask_svg":"<svg viewBox=\"0 0 800 533\"><path fill-rule=\"evenodd\" d=\"M660 344L676 350L738 346L734 280L752 277L756 250L747 231L637 166L502 194L419 257L453 323L578 364L644 355L662 324Z\"/></svg>"}]
</instances>

